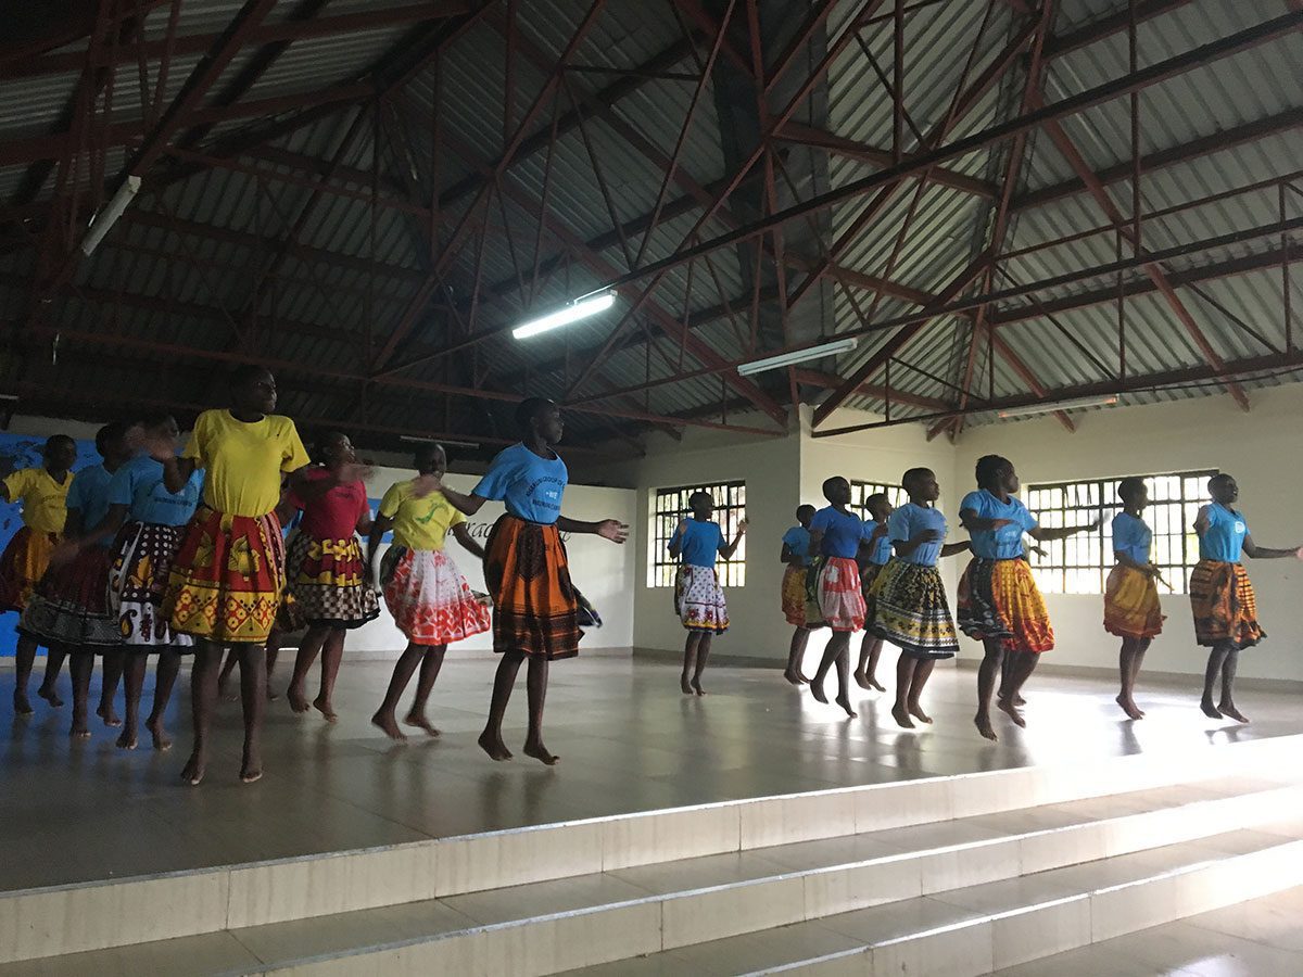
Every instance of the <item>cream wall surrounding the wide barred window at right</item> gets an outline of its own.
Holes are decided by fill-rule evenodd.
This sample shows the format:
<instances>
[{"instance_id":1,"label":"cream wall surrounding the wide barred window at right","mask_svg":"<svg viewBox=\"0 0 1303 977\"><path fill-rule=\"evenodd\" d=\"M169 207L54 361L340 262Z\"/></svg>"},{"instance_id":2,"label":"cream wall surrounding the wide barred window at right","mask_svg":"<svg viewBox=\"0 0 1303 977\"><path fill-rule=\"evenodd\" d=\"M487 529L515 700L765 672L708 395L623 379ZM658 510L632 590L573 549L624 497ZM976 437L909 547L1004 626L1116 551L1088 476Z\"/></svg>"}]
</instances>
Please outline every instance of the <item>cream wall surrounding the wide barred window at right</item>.
<instances>
[{"instance_id":1,"label":"cream wall surrounding the wide barred window at right","mask_svg":"<svg viewBox=\"0 0 1303 977\"><path fill-rule=\"evenodd\" d=\"M1023 483L1216 468L1235 475L1253 541L1303 543L1298 485L1303 386L1255 391L1244 413L1230 397L1074 414L1068 434L1053 417L966 431L955 455L955 482L972 485L973 464L988 453L1009 457ZM1110 513L1111 517L1111 513ZM1239 673L1303 680L1303 565L1296 560L1246 560L1257 590L1268 640L1240 657ZM1057 647L1045 662L1111 668L1118 640L1102 627L1104 598L1046 595ZM1201 675L1207 654L1195 645L1190 599L1164 595L1167 620L1145 657L1145 668ZM973 642L966 642L976 653Z\"/></svg>"}]
</instances>

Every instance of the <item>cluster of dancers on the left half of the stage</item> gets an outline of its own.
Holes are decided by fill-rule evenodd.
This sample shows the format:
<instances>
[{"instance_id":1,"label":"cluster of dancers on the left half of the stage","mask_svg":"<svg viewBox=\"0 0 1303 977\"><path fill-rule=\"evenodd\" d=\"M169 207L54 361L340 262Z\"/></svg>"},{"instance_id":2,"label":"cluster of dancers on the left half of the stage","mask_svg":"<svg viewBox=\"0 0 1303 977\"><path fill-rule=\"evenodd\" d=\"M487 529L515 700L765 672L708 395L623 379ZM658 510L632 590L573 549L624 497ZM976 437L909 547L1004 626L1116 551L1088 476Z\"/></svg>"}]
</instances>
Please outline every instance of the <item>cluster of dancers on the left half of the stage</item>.
<instances>
[{"instance_id":1,"label":"cluster of dancers on the left half of the stage","mask_svg":"<svg viewBox=\"0 0 1303 977\"><path fill-rule=\"evenodd\" d=\"M538 397L523 401L516 410L520 443L494 459L469 495L443 485L444 452L423 446L416 477L384 494L374 520L364 485L370 468L357 461L349 439L323 436L310 460L293 421L274 414L275 408L272 375L241 367L231 376L229 406L201 413L180 452L176 421L151 416L102 429L102 462L76 475L76 443L55 435L39 468L4 479L3 498L22 503L23 520L0 556L0 610L20 614L14 713L33 713L27 687L43 645L48 657L38 694L51 706L63 705L56 680L66 659L70 732L89 736L98 657L103 692L96 713L108 726L122 726L119 746L134 749L147 658L156 654L145 726L155 749L167 749L163 715L181 657L193 653L194 741L182 778L198 784L208 765L222 657L229 653L240 667L244 711L240 779L251 783L263 774L268 646L304 633L287 698L294 711L309 709L306 676L319 655L321 692L311 706L334 722L344 637L379 616L379 584L408 646L371 722L392 739L405 739L396 710L420 670L404 722L437 736L426 701L448 644L491 629L502 659L478 743L494 759L511 758L502 723L528 659L524 752L555 763L542 739L549 662L576 655L581 623L592 620L571 581L560 534L595 534L615 543L628 534L614 518L585 522L562 515L568 474L555 451L563 434L558 406ZM506 512L481 547L466 516L486 502L502 502ZM301 521L287 546L281 526L296 513ZM377 574L375 558L391 531ZM487 595L472 591L447 555L450 531L483 561ZM367 541L365 554L358 534ZM115 709L119 684L125 685L125 719Z\"/></svg>"}]
</instances>

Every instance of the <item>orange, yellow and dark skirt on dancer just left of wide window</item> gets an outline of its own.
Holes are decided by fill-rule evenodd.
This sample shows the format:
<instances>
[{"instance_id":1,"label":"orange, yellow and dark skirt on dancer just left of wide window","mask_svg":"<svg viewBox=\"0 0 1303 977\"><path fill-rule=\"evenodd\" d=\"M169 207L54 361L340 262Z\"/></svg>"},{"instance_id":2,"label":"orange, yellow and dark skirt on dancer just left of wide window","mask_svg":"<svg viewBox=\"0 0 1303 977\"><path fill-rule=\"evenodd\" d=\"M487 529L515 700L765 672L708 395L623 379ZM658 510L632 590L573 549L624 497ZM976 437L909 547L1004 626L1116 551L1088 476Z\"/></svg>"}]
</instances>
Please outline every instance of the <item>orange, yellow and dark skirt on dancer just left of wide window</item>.
<instances>
[{"instance_id":1,"label":"orange, yellow and dark skirt on dancer just left of wide window","mask_svg":"<svg viewBox=\"0 0 1303 977\"><path fill-rule=\"evenodd\" d=\"M1045 598L1027 560L975 558L959 580L959 629L971 638L999 638L1006 651L1054 647Z\"/></svg>"}]
</instances>

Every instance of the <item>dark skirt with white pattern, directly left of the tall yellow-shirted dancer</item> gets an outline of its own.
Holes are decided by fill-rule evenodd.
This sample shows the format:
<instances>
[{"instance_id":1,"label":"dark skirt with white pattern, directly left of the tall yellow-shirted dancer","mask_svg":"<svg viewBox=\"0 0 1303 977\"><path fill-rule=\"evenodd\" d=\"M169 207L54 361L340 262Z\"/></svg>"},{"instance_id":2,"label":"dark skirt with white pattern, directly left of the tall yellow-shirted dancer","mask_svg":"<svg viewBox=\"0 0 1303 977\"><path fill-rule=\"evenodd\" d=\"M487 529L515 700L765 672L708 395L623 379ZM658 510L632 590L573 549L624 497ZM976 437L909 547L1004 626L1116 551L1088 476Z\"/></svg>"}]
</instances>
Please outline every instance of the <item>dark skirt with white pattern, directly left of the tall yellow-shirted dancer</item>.
<instances>
[{"instance_id":1,"label":"dark skirt with white pattern, directly left of the tall yellow-shirted dancer","mask_svg":"<svg viewBox=\"0 0 1303 977\"><path fill-rule=\"evenodd\" d=\"M128 522L117 534L108 569L108 608L119 638L133 650L194 645L189 634L172 630L163 614L163 594L182 539L185 526L154 522Z\"/></svg>"}]
</instances>

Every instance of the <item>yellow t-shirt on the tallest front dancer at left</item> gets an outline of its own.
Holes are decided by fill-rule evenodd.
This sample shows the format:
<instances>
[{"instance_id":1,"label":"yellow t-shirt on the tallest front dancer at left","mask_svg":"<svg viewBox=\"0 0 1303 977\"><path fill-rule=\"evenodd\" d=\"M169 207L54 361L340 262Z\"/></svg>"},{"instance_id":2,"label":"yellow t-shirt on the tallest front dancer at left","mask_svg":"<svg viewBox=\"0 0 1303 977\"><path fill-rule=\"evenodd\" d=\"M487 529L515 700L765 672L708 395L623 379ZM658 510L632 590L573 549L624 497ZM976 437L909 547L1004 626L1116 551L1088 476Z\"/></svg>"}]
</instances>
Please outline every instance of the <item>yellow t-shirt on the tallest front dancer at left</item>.
<instances>
[{"instance_id":1,"label":"yellow t-shirt on the tallest front dancer at left","mask_svg":"<svg viewBox=\"0 0 1303 977\"><path fill-rule=\"evenodd\" d=\"M205 469L203 504L228 516L266 516L280 502L280 474L309 462L294 422L268 414L237 421L229 410L205 410L181 452Z\"/></svg>"}]
</instances>

